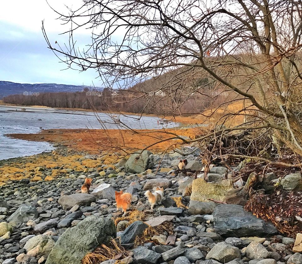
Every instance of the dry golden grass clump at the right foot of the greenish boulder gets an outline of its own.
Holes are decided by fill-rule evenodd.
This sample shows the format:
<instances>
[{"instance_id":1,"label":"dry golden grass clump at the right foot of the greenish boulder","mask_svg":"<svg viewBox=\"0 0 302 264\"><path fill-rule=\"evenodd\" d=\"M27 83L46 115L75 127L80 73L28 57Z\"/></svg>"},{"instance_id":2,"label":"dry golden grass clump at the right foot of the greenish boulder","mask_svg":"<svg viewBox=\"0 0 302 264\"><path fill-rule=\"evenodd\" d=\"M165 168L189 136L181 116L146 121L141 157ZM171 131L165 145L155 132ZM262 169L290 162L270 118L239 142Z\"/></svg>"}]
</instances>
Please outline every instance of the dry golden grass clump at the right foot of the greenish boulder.
<instances>
[{"instance_id":1,"label":"dry golden grass clump at the right foot of the greenish boulder","mask_svg":"<svg viewBox=\"0 0 302 264\"><path fill-rule=\"evenodd\" d=\"M122 254L124 257L129 256L129 252L125 251L123 247L120 247L120 240L116 241L112 239L109 242L109 246L101 245L95 251L88 252L82 259L82 264L98 264L102 261L114 259L116 255ZM122 261L117 260L116 264L123 264Z\"/></svg>"}]
</instances>

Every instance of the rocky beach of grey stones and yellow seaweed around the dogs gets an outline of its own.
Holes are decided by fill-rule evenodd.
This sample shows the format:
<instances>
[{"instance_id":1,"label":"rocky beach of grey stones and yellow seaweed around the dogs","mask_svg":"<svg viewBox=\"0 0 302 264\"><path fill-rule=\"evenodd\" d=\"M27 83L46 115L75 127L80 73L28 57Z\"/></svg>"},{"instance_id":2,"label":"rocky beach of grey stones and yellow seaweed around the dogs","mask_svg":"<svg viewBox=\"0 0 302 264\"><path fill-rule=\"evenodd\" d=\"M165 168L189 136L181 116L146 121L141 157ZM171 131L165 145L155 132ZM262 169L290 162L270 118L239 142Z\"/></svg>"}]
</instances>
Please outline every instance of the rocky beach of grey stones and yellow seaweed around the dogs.
<instances>
[{"instance_id":1,"label":"rocky beach of grey stones and yellow seaweed around the dogs","mask_svg":"<svg viewBox=\"0 0 302 264\"><path fill-rule=\"evenodd\" d=\"M0 161L2 264L302 263L299 236L293 251L295 239L272 223L241 205L207 199L232 189L227 178L240 166L211 168L207 184L226 191L210 193L202 174L196 180L190 172L175 175L183 158L187 169L202 170L194 145L126 158L54 146ZM80 191L86 177L92 178L88 194ZM150 210L144 193L157 186L164 198ZM132 194L126 217L116 209L115 190Z\"/></svg>"}]
</instances>

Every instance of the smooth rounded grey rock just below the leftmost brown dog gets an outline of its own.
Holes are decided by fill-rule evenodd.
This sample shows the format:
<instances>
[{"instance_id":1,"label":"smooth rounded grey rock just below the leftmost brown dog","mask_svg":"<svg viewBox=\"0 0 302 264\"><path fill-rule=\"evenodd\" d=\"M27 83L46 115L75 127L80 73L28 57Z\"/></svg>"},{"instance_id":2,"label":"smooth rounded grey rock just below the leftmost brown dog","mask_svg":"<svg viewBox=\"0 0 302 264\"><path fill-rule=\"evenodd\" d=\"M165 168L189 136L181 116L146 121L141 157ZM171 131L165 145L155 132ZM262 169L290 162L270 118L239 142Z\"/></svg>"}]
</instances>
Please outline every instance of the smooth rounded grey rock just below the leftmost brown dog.
<instances>
[{"instance_id":1,"label":"smooth rounded grey rock just below the leftmost brown dog","mask_svg":"<svg viewBox=\"0 0 302 264\"><path fill-rule=\"evenodd\" d=\"M71 209L73 206L87 206L92 202L95 202L96 199L93 195L88 193L74 193L71 195L63 195L59 198L58 203L63 206L64 209Z\"/></svg>"}]
</instances>

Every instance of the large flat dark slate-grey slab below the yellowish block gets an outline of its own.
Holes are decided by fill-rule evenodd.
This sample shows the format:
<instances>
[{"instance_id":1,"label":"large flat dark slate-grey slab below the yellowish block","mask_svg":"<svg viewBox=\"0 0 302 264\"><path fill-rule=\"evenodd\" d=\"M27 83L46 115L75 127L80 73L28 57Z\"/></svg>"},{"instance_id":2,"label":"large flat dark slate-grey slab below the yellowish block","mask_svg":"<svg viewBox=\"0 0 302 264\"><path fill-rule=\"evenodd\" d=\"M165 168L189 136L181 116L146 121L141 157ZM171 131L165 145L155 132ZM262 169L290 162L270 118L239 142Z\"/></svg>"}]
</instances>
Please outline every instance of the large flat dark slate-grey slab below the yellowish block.
<instances>
[{"instance_id":1,"label":"large flat dark slate-grey slab below the yellowish block","mask_svg":"<svg viewBox=\"0 0 302 264\"><path fill-rule=\"evenodd\" d=\"M221 204L215 207L215 231L222 236L273 236L276 227L271 222L257 218L237 204Z\"/></svg>"}]
</instances>

